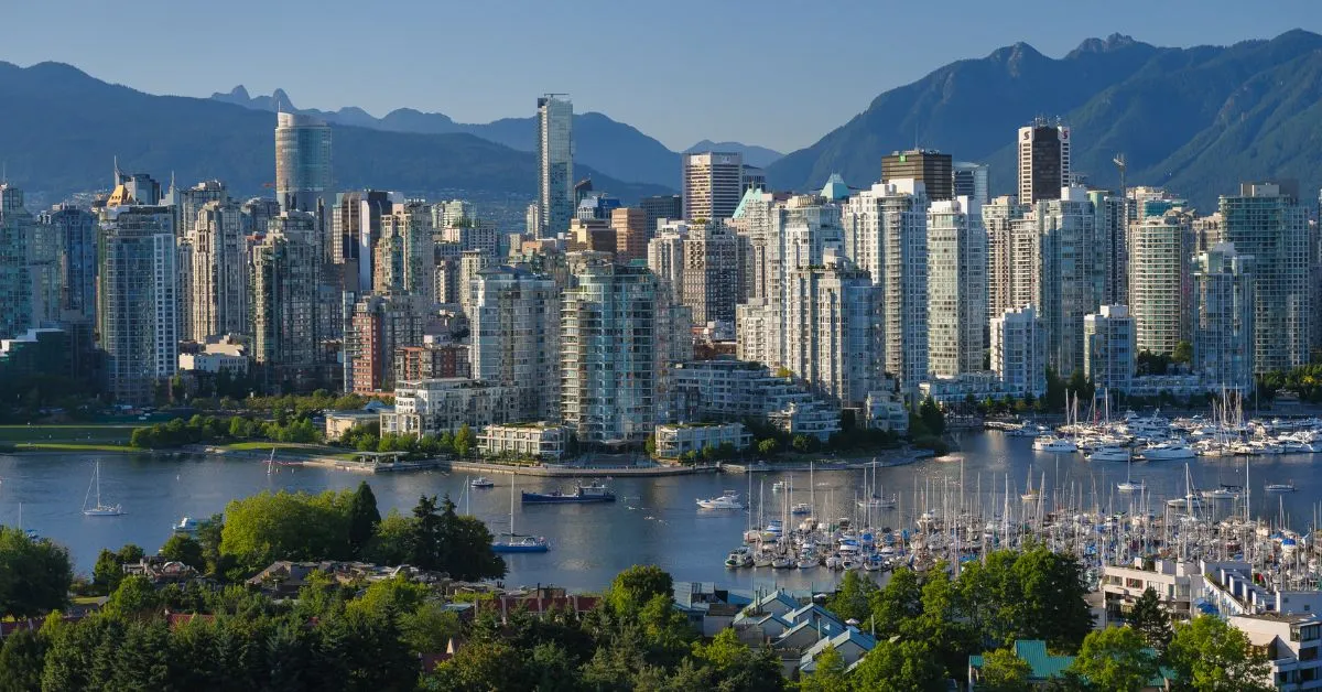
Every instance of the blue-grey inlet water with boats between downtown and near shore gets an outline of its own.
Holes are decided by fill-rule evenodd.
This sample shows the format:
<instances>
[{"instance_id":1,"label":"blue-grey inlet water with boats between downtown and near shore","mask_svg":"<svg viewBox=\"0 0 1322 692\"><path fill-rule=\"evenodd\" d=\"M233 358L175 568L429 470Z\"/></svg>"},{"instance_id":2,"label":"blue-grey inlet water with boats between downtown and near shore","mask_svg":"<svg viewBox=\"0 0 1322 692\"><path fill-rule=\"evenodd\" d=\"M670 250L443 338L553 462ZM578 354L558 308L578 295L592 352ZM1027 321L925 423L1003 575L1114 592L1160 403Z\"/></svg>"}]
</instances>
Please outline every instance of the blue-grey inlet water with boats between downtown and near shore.
<instances>
[{"instance_id":1,"label":"blue-grey inlet water with boats between downtown and near shore","mask_svg":"<svg viewBox=\"0 0 1322 692\"><path fill-rule=\"evenodd\" d=\"M1149 494L1138 496L1116 491L1125 479L1124 463L1091 463L1079 454L1036 453L1031 441L1001 433L966 433L958 438L960 451L944 460L923 460L912 466L879 468L876 482L883 494L899 496L899 507L874 520L876 525L912 525L915 508L974 505L998 513L1005 504L1009 479L1013 512L1021 511L1019 492L1031 476L1038 487L1043 478L1056 497L1073 507L1103 512L1162 512L1163 500L1185 495L1185 463L1136 463L1134 479L1147 483ZM83 516L83 499L93 468L100 460L100 492L107 504L122 504L118 517ZM1313 524L1322 500L1322 478L1313 470L1313 455L1256 456L1249 459L1252 513L1285 517L1296 529ZM1244 484L1244 458L1195 459L1188 463L1198 488ZM698 497L713 497L724 490L748 495L750 476L706 474L664 478L617 478L607 483L619 500L611 504L521 505L514 501L514 528L518 533L546 536L551 550L543 554L505 556L508 584L554 584L579 590L600 589L620 570L635 564L654 564L678 581L717 581L730 587L769 587L775 585L810 589L832 585L837 573L809 570L731 570L726 554L740 545L750 524L784 516L788 492L772 492L771 486L788 474L752 474L751 512L707 512L697 508ZM869 472L870 478L871 474ZM485 521L493 532L509 529L510 483L514 491L571 488L572 479L493 476L494 488L468 491L469 476L440 471L362 476L324 468L280 467L268 475L266 464L222 456L185 459L149 455L0 455L0 523L16 525L22 505L22 527L69 546L77 569L90 573L102 548L135 542L148 552L171 535L171 524L181 516L205 519L225 509L234 497L266 490L308 491L353 488L366 479L377 496L382 515L397 508L407 513L419 495L448 494ZM962 478L962 483L960 482ZM1297 492L1266 495L1265 483L1293 482ZM812 501L818 517L862 519L855 497L863 495L863 471L816 474L809 492L808 472L792 474L793 503ZM759 505L759 499L763 503ZM1146 507L1138 507L1142 501ZM1218 503L1229 505L1229 503ZM1237 511L1243 511L1236 503ZM875 512L875 511L874 511ZM797 524L793 517L787 525Z\"/></svg>"}]
</instances>

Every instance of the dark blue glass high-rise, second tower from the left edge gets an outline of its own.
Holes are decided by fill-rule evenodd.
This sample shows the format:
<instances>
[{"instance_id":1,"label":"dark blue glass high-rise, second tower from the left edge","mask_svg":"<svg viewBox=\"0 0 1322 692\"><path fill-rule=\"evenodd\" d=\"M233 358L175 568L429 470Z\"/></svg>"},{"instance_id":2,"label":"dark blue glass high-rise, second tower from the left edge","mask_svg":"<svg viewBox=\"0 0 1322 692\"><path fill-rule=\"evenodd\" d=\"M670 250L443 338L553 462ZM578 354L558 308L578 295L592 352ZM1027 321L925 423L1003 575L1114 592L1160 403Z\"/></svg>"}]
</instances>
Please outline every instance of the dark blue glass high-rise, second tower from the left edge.
<instances>
[{"instance_id":1,"label":"dark blue glass high-rise, second tower from the left edge","mask_svg":"<svg viewBox=\"0 0 1322 692\"><path fill-rule=\"evenodd\" d=\"M97 217L71 204L42 212L58 246L59 307L67 319L97 322Z\"/></svg>"}]
</instances>

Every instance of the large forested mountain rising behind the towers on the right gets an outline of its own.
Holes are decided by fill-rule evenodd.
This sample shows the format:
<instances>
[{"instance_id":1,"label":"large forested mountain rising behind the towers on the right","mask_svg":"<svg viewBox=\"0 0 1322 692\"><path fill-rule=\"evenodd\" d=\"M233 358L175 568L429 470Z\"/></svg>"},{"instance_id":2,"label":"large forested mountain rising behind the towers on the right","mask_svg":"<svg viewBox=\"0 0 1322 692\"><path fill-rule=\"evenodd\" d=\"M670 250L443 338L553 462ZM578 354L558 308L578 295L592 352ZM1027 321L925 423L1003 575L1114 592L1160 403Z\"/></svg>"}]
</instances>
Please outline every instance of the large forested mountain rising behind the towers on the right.
<instances>
[{"instance_id":1,"label":"large forested mountain rising behind the towers on the right","mask_svg":"<svg viewBox=\"0 0 1322 692\"><path fill-rule=\"evenodd\" d=\"M1015 130L1034 116L1071 126L1071 164L1091 184L1162 185L1212 210L1240 180L1322 185L1322 36L1286 32L1231 46L1157 48L1089 38L1055 60L1027 44L953 62L876 97L863 112L767 169L768 184L805 189L839 172L880 177L895 150L949 152L990 164L993 193L1015 177ZM1305 197L1311 193L1303 192Z\"/></svg>"}]
</instances>

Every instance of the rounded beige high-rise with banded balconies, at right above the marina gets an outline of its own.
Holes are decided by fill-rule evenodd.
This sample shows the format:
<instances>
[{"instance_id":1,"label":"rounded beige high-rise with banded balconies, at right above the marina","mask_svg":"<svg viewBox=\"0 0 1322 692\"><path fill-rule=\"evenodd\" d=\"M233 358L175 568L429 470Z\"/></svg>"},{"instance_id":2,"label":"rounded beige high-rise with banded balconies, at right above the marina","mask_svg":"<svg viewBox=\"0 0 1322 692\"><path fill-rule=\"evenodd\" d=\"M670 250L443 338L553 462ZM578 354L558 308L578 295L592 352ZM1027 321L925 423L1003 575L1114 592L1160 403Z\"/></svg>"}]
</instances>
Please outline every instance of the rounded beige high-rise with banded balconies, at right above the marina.
<instances>
[{"instance_id":1,"label":"rounded beige high-rise with banded balconies, at right above the marina","mask_svg":"<svg viewBox=\"0 0 1322 692\"><path fill-rule=\"evenodd\" d=\"M1129 312L1137 352L1174 353L1190 339L1192 218L1171 210L1136 221L1129 238Z\"/></svg>"}]
</instances>

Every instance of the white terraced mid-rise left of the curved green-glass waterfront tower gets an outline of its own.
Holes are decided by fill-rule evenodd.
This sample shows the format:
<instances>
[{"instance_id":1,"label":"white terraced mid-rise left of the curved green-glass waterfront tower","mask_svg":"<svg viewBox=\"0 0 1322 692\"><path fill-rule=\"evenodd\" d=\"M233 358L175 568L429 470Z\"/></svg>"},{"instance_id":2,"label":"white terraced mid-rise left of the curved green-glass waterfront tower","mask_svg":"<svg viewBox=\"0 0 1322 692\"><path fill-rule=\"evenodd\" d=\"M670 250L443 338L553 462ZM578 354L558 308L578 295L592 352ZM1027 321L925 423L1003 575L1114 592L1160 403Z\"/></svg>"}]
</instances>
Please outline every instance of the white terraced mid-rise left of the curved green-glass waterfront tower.
<instances>
[{"instance_id":1,"label":"white terraced mid-rise left of the curved green-glass waterfront tower","mask_svg":"<svg viewBox=\"0 0 1322 692\"><path fill-rule=\"evenodd\" d=\"M407 437L455 434L468 426L475 431L514 421L516 388L467 380L418 380L395 386L394 410L381 411L381 434Z\"/></svg>"}]
</instances>

